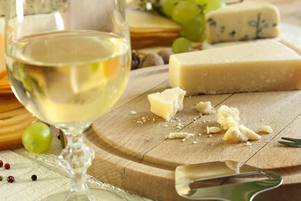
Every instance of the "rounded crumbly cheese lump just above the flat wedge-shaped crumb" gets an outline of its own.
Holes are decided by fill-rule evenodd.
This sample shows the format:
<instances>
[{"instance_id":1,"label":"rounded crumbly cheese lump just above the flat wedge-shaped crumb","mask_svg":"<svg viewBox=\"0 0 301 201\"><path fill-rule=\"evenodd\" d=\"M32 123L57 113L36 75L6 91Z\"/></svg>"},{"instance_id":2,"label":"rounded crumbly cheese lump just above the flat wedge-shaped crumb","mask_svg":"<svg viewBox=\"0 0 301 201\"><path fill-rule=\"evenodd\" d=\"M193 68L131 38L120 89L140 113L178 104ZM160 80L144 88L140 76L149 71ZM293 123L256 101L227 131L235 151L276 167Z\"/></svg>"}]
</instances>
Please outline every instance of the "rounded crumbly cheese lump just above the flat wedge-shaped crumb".
<instances>
[{"instance_id":1,"label":"rounded crumbly cheese lump just above the flat wedge-shaped crumb","mask_svg":"<svg viewBox=\"0 0 301 201\"><path fill-rule=\"evenodd\" d=\"M217 110L217 123L219 123L225 130L237 126L239 118L239 111L237 108L229 108L222 105Z\"/></svg>"}]
</instances>

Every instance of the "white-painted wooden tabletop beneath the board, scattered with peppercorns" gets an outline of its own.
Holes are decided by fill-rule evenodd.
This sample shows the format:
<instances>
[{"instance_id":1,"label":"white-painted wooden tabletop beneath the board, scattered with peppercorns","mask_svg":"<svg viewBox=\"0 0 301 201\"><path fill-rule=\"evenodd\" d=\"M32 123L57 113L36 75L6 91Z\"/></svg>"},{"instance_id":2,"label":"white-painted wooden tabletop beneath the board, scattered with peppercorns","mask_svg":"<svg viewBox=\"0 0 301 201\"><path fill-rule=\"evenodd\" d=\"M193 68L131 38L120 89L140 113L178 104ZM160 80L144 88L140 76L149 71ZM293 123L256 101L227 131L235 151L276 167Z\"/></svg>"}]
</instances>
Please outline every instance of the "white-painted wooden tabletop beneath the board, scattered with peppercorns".
<instances>
[{"instance_id":1,"label":"white-painted wooden tabletop beneath the board, scattered with peppercorns","mask_svg":"<svg viewBox=\"0 0 301 201\"><path fill-rule=\"evenodd\" d=\"M299 12L301 1L266 0L266 2L273 3L279 7L283 22L301 26L301 13ZM295 33L300 33L301 36L301 28L285 27L290 27L290 29L295 30ZM0 160L11 164L10 170L0 168L0 175L3 175L4 179L9 175L16 177L14 183L0 181L0 200L41 200L50 194L69 189L70 179L68 174L58 165L58 155L61 149L61 144L56 134L46 154L29 153L24 148L0 152ZM38 175L37 181L31 180L33 174ZM113 190L131 201L150 200L102 183L90 175L87 175L87 183L90 187Z\"/></svg>"}]
</instances>

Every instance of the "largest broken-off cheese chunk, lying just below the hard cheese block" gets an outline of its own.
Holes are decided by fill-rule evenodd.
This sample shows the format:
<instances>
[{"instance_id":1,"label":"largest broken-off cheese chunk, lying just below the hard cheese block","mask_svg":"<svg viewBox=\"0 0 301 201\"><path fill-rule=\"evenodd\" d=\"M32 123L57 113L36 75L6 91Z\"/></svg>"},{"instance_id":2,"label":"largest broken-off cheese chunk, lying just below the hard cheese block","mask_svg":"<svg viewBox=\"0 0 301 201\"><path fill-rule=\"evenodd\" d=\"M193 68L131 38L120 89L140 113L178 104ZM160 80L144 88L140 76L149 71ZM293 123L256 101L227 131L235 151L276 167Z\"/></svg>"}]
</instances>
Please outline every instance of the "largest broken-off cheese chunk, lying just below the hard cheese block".
<instances>
[{"instance_id":1,"label":"largest broken-off cheese chunk, lying just below the hard cheese block","mask_svg":"<svg viewBox=\"0 0 301 201\"><path fill-rule=\"evenodd\" d=\"M148 94L150 111L170 121L176 113L183 110L183 99L186 91L179 87L166 89L162 93Z\"/></svg>"}]
</instances>

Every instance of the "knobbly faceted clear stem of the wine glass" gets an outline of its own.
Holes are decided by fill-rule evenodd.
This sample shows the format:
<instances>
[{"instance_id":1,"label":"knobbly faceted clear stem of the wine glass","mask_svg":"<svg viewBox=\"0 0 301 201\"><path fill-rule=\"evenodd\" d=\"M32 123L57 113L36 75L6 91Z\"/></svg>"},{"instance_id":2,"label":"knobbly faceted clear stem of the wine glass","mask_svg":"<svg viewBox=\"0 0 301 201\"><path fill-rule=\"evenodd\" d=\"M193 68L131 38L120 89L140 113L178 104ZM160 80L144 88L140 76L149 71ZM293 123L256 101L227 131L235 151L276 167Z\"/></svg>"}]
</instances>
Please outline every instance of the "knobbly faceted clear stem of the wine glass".
<instances>
[{"instance_id":1,"label":"knobbly faceted clear stem of the wine glass","mask_svg":"<svg viewBox=\"0 0 301 201\"><path fill-rule=\"evenodd\" d=\"M94 158L93 149L87 147L82 138L82 129L65 131L67 147L59 156L59 165L71 178L70 195L65 200L93 200L86 184L86 172Z\"/></svg>"}]
</instances>

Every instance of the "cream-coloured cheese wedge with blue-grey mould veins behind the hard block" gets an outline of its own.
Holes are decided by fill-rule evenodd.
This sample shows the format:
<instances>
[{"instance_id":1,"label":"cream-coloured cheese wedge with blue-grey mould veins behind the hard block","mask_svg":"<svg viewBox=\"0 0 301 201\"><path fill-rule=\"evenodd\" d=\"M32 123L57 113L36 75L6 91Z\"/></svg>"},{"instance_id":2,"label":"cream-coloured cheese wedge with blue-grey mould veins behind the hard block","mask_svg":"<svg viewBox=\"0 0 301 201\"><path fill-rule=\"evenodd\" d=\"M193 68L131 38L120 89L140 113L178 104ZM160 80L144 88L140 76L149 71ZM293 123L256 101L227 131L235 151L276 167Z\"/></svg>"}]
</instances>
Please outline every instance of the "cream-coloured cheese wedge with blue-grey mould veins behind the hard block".
<instances>
[{"instance_id":1,"label":"cream-coloured cheese wedge with blue-grey mould veins behind the hard block","mask_svg":"<svg viewBox=\"0 0 301 201\"><path fill-rule=\"evenodd\" d=\"M243 2L206 15L210 44L246 41L279 36L280 15L276 6L263 2Z\"/></svg>"}]
</instances>

